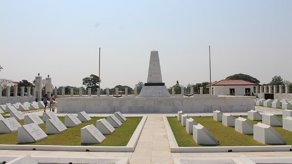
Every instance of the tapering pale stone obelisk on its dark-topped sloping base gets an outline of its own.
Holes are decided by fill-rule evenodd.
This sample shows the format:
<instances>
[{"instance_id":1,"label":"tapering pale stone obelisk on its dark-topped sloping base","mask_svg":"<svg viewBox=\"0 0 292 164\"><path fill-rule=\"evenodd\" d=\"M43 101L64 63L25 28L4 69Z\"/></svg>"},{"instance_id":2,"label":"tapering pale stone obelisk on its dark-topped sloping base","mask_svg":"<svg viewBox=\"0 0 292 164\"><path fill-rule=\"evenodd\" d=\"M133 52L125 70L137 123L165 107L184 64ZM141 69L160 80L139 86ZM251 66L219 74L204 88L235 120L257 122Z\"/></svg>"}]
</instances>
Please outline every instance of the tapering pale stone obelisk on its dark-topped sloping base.
<instances>
[{"instance_id":1,"label":"tapering pale stone obelisk on its dark-topped sloping base","mask_svg":"<svg viewBox=\"0 0 292 164\"><path fill-rule=\"evenodd\" d=\"M148 68L147 83L143 86L139 97L170 97L170 94L162 82L158 51L151 51Z\"/></svg>"}]
</instances>

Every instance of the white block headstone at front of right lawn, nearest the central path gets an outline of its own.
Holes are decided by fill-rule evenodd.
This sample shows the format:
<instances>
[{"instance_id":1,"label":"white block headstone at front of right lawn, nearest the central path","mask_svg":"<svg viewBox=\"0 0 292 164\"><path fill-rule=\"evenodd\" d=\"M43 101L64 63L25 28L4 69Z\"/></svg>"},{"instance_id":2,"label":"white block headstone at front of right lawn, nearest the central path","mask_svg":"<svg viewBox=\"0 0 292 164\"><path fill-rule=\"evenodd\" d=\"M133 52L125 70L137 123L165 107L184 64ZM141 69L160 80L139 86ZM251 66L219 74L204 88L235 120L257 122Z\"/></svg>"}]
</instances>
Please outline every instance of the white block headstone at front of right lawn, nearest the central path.
<instances>
[{"instance_id":1,"label":"white block headstone at front of right lawn, nearest the central path","mask_svg":"<svg viewBox=\"0 0 292 164\"><path fill-rule=\"evenodd\" d=\"M200 145L218 145L219 141L201 124L193 126L193 139Z\"/></svg>"}]
</instances>

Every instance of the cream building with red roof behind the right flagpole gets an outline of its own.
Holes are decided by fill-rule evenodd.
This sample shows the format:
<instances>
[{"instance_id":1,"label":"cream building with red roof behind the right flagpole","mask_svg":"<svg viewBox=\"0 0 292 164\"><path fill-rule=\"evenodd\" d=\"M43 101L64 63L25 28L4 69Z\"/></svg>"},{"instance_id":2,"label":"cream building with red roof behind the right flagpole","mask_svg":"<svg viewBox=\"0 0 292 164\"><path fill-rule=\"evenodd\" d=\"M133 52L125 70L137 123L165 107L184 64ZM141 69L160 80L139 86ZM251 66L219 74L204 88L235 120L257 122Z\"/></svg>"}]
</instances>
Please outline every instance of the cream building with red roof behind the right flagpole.
<instances>
[{"instance_id":1,"label":"cream building with red roof behind the right flagpole","mask_svg":"<svg viewBox=\"0 0 292 164\"><path fill-rule=\"evenodd\" d=\"M244 80L220 80L212 83L212 95L253 95L256 83ZM207 85L210 88L210 85Z\"/></svg>"}]
</instances>

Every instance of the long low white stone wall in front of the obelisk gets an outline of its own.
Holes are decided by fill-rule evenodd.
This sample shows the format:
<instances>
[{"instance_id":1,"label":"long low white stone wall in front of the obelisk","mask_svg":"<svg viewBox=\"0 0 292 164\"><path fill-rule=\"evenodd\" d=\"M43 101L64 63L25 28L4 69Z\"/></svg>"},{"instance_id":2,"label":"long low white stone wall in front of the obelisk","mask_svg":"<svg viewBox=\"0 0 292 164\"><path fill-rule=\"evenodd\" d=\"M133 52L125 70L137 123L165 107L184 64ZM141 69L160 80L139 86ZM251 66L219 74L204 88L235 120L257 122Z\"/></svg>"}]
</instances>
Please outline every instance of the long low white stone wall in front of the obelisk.
<instances>
[{"instance_id":1,"label":"long low white stone wall in front of the obelisk","mask_svg":"<svg viewBox=\"0 0 292 164\"><path fill-rule=\"evenodd\" d=\"M247 112L255 109L253 96L181 97L181 98L56 98L57 112L87 113L185 113Z\"/></svg>"}]
</instances>

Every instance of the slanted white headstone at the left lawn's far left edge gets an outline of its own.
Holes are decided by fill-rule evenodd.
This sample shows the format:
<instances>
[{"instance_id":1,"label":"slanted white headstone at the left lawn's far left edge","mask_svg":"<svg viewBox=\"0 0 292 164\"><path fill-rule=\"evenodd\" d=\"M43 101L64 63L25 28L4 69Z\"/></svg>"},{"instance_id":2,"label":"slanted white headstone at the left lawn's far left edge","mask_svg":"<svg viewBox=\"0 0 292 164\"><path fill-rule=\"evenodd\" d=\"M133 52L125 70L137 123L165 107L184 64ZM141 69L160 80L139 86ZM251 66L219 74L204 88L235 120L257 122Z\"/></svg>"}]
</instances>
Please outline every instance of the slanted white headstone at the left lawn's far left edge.
<instances>
[{"instance_id":1,"label":"slanted white headstone at the left lawn's far left edge","mask_svg":"<svg viewBox=\"0 0 292 164\"><path fill-rule=\"evenodd\" d=\"M16 132L18 127L21 127L21 125L14 117L0 120L0 133Z\"/></svg>"}]
</instances>

